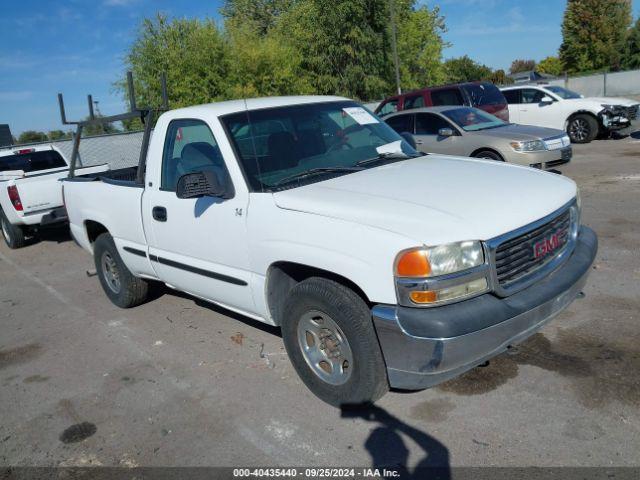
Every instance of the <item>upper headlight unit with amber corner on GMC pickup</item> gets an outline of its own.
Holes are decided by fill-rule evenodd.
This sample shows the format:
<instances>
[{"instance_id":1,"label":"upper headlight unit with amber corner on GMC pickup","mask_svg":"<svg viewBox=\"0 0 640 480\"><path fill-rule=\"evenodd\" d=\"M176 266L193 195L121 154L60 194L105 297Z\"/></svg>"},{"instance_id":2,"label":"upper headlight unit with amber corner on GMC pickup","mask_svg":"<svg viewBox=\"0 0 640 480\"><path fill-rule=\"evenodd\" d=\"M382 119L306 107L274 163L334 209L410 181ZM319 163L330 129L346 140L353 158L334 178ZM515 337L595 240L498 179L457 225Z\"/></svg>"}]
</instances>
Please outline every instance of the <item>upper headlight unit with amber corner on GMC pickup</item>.
<instances>
[{"instance_id":1,"label":"upper headlight unit with amber corner on GMC pickup","mask_svg":"<svg viewBox=\"0 0 640 480\"><path fill-rule=\"evenodd\" d=\"M483 263L484 253L480 242L448 243L401 252L396 259L395 274L398 277L434 277Z\"/></svg>"}]
</instances>

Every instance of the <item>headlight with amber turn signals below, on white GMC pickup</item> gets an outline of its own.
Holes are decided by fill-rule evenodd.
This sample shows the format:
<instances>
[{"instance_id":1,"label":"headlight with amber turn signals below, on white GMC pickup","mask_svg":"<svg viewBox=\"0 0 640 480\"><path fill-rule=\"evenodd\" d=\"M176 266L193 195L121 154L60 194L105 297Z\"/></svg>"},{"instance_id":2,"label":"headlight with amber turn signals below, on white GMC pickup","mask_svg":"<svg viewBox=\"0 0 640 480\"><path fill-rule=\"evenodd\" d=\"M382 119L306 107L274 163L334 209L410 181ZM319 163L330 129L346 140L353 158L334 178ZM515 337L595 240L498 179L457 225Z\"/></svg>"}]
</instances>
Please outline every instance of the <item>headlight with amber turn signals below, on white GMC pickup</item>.
<instances>
[{"instance_id":1,"label":"headlight with amber turn signals below, on white GMC pickup","mask_svg":"<svg viewBox=\"0 0 640 480\"><path fill-rule=\"evenodd\" d=\"M478 241L405 250L394 273L398 301L405 306L436 306L489 290L489 268Z\"/></svg>"}]
</instances>

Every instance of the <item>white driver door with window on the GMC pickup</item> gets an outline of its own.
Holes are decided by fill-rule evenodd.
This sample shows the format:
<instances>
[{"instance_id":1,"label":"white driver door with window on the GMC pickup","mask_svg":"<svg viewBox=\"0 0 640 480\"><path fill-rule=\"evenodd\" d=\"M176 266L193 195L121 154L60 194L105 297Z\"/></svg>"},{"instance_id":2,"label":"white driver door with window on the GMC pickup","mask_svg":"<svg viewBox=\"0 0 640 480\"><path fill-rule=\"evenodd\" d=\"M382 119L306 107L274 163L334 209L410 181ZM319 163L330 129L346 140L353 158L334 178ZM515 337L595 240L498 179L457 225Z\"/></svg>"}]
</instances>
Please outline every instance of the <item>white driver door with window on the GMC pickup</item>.
<instances>
[{"instance_id":1,"label":"white driver door with window on the GMC pickup","mask_svg":"<svg viewBox=\"0 0 640 480\"><path fill-rule=\"evenodd\" d=\"M180 176L201 171L215 172L227 189L233 189L209 126L201 120L171 121L160 182L147 185L142 202L149 258L158 277L170 286L252 312L245 222L248 194L236 190L228 199L178 198Z\"/></svg>"}]
</instances>

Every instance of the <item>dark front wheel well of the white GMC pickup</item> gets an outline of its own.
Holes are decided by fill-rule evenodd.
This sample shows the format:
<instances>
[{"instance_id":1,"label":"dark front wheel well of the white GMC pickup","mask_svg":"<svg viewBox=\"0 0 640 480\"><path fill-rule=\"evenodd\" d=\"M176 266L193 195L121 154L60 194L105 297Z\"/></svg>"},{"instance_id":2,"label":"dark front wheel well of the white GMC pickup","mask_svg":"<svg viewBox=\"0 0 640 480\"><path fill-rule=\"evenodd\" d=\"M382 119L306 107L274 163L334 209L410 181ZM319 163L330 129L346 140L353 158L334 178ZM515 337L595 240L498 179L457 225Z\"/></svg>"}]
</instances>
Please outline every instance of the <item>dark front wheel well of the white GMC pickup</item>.
<instances>
[{"instance_id":1,"label":"dark front wheel well of the white GMC pickup","mask_svg":"<svg viewBox=\"0 0 640 480\"><path fill-rule=\"evenodd\" d=\"M269 313L276 325L281 324L281 315L284 302L291 289L298 283L311 277L321 277L340 283L353 290L367 305L371 302L354 282L337 273L322 270L321 268L310 267L294 262L276 262L267 271L267 304Z\"/></svg>"}]
</instances>

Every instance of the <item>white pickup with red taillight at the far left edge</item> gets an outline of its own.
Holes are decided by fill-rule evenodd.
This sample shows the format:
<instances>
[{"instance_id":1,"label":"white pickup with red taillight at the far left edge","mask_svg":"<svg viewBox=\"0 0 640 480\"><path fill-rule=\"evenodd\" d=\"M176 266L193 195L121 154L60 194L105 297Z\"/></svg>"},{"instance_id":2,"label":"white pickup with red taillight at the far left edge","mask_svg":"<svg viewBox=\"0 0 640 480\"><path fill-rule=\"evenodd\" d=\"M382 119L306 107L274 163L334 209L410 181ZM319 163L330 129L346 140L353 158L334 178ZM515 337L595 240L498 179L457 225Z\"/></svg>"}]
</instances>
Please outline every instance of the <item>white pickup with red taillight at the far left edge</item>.
<instances>
[{"instance_id":1,"label":"white pickup with red taillight at the far left edge","mask_svg":"<svg viewBox=\"0 0 640 480\"><path fill-rule=\"evenodd\" d=\"M106 170L106 165L78 169ZM21 248L39 227L67 221L60 179L69 165L56 148L12 147L0 150L0 223L9 248Z\"/></svg>"}]
</instances>

